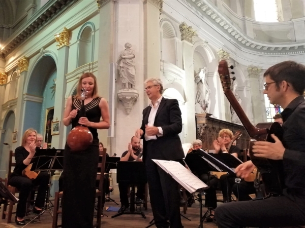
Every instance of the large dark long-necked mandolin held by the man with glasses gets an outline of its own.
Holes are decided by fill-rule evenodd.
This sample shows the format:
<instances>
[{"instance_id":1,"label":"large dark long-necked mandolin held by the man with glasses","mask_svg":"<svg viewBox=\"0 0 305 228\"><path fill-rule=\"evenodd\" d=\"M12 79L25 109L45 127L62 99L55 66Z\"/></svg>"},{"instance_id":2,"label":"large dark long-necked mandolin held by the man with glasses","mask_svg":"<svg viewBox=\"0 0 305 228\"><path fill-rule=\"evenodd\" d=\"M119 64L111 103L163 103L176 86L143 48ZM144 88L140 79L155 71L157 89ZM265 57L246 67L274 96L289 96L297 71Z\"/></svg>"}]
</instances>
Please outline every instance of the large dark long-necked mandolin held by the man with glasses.
<instances>
[{"instance_id":1,"label":"large dark long-necked mandolin held by the man with glasses","mask_svg":"<svg viewBox=\"0 0 305 228\"><path fill-rule=\"evenodd\" d=\"M233 69L233 66L230 68ZM281 195L282 189L284 188L283 161L255 157L252 151L252 146L256 141L275 142L275 140L273 140L271 137L271 134L275 134L280 140L282 140L283 128L277 122L259 123L256 126L253 126L248 119L245 111L242 110L240 104L231 91L230 72L228 63L225 60L222 60L219 63L218 72L226 97L228 98L231 106L234 108L243 127L245 127L246 131L251 137L249 145L250 158L253 164L257 167L258 173L262 177L263 183L265 185L265 191L268 194Z\"/></svg>"}]
</instances>

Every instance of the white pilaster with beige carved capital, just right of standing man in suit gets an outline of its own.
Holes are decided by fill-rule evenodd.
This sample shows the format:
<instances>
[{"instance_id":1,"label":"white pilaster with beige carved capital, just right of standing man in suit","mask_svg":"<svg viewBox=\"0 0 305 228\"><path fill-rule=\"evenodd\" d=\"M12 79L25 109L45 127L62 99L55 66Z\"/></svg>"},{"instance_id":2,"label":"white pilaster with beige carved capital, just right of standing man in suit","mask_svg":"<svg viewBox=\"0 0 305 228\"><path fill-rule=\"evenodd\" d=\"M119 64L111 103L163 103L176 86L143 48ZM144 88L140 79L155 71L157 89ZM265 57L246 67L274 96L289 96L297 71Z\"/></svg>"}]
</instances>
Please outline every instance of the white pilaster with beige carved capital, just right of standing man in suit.
<instances>
[{"instance_id":1,"label":"white pilaster with beige carved capital, just right of standing man in suit","mask_svg":"<svg viewBox=\"0 0 305 228\"><path fill-rule=\"evenodd\" d=\"M196 120L195 120L195 90L187 89L194 88L194 63L193 63L193 36L196 31L192 26L188 26L186 22L179 25L181 32L182 46L182 63L186 71L186 110L187 122L185 124L185 142L192 142L196 139Z\"/></svg>"}]
</instances>

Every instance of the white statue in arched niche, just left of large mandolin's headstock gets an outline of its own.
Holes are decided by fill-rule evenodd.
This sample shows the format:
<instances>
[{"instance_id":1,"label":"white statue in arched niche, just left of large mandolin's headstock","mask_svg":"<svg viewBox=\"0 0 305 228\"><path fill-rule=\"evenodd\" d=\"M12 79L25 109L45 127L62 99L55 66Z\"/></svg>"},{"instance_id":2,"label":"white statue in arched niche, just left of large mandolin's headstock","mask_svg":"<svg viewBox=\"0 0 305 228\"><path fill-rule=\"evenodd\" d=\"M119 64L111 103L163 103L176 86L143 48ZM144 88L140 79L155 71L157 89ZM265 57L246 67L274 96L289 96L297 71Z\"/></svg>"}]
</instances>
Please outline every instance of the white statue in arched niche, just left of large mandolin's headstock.
<instances>
[{"instance_id":1,"label":"white statue in arched niche, just left of large mandolin's headstock","mask_svg":"<svg viewBox=\"0 0 305 228\"><path fill-rule=\"evenodd\" d=\"M196 90L196 102L195 102L195 112L196 113L206 113L206 108L210 103L210 89L208 88L207 82L205 80L205 74L208 72L207 67L199 68L198 73L195 75L195 83L197 83Z\"/></svg>"}]
</instances>

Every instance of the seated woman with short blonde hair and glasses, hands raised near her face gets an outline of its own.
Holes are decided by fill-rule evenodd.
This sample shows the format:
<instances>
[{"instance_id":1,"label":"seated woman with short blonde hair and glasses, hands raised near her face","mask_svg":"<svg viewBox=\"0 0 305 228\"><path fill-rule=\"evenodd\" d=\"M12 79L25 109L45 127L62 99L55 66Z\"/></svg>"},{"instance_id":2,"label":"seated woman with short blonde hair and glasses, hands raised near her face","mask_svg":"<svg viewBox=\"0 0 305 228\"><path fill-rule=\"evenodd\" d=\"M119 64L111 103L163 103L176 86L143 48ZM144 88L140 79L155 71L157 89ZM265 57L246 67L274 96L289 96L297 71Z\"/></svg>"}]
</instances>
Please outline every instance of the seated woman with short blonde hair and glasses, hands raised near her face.
<instances>
[{"instance_id":1,"label":"seated woman with short blonde hair and glasses, hands raised near her face","mask_svg":"<svg viewBox=\"0 0 305 228\"><path fill-rule=\"evenodd\" d=\"M222 129L218 134L217 140L214 140L213 145L216 154L229 153L236 158L239 157L240 149L236 145L231 145L233 132L229 129ZM220 176L220 188L224 197L224 202L231 202L232 186L235 184L235 175L225 174Z\"/></svg>"}]
</instances>

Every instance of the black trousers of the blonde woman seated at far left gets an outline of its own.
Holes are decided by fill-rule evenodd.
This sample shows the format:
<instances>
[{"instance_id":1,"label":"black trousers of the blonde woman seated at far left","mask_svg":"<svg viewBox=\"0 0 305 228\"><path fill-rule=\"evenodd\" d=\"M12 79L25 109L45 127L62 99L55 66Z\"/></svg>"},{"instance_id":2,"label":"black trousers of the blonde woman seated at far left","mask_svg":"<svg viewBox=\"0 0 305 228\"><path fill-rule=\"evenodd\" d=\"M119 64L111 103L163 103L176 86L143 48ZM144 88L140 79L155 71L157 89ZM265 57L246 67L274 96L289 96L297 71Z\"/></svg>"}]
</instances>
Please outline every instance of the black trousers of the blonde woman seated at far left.
<instances>
[{"instance_id":1,"label":"black trousers of the blonde woman seated at far left","mask_svg":"<svg viewBox=\"0 0 305 228\"><path fill-rule=\"evenodd\" d=\"M46 193L48 190L48 184L50 175L48 172L40 172L36 179L30 180L23 176L12 176L8 180L8 184L13 187L17 187L20 191L19 202L17 204L16 216L23 218L26 213L26 200L29 193L32 191L34 186L38 186L38 193L35 201L35 206L43 208L46 200Z\"/></svg>"}]
</instances>

